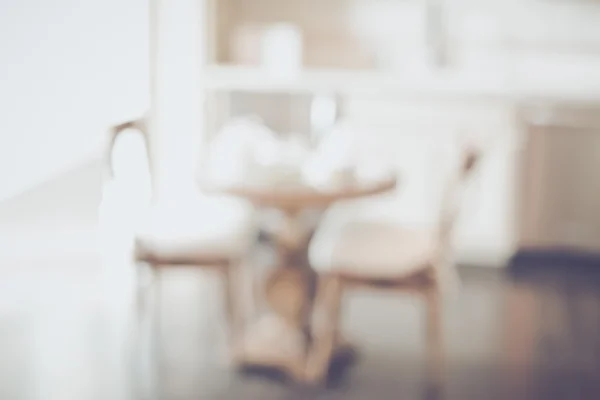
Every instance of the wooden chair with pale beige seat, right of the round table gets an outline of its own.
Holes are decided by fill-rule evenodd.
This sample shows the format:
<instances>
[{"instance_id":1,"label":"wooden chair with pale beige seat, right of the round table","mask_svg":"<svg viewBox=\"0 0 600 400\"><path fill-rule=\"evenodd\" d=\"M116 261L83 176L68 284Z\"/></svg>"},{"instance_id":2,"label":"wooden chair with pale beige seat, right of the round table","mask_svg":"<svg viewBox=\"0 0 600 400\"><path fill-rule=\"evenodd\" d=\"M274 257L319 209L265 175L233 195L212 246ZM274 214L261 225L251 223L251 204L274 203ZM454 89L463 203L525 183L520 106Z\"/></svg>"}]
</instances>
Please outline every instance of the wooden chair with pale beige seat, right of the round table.
<instances>
[{"instance_id":1,"label":"wooden chair with pale beige seat, right of the round table","mask_svg":"<svg viewBox=\"0 0 600 400\"><path fill-rule=\"evenodd\" d=\"M443 284L453 278L450 239L461 189L478 158L478 152L470 149L454 157L456 168L444 178L442 205L433 229L421 232L389 220L351 220L334 230L325 221L319 227L309 252L319 279L307 381L325 379L333 353L343 345L339 330L345 291L367 288L412 293L425 300L428 365L433 381L441 383L441 295Z\"/></svg>"}]
</instances>

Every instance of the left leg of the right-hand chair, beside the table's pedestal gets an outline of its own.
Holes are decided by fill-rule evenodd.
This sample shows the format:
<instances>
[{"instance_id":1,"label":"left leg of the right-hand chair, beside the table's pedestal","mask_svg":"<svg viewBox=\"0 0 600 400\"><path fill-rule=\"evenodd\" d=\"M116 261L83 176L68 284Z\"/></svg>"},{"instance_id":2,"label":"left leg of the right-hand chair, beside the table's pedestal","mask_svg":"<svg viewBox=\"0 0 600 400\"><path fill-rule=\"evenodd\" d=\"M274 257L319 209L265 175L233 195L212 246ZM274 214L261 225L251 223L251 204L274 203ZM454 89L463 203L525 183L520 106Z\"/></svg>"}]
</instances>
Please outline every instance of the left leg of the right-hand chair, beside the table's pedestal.
<instances>
[{"instance_id":1,"label":"left leg of the right-hand chair, beside the table's pedestal","mask_svg":"<svg viewBox=\"0 0 600 400\"><path fill-rule=\"evenodd\" d=\"M339 337L342 296L340 278L319 278L313 340L306 360L305 379L309 383L322 382L327 377L329 362Z\"/></svg>"}]
</instances>

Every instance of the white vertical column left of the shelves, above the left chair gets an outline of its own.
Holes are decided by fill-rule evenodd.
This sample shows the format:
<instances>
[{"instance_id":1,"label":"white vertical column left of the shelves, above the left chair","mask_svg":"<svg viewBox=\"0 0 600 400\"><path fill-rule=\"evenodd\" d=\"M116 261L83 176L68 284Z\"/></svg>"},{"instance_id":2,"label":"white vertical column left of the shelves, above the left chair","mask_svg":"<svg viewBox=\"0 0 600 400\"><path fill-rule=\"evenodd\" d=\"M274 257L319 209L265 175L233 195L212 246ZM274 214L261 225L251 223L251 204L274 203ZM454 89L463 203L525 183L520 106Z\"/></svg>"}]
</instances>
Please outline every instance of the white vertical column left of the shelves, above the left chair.
<instances>
[{"instance_id":1,"label":"white vertical column left of the shelves, above the left chair","mask_svg":"<svg viewBox=\"0 0 600 400\"><path fill-rule=\"evenodd\" d=\"M206 0L151 1L155 194L177 200L196 184L204 120Z\"/></svg>"}]
</instances>

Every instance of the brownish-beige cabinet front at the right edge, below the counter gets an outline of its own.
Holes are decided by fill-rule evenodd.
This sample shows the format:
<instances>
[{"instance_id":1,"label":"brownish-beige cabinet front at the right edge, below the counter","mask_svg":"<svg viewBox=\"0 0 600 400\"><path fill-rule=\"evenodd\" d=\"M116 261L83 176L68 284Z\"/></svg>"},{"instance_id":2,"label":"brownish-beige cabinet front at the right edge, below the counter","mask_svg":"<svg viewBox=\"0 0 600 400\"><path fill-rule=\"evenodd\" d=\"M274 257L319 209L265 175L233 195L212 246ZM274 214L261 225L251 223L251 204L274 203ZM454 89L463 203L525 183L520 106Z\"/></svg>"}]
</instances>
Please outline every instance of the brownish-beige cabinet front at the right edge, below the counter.
<instances>
[{"instance_id":1,"label":"brownish-beige cabinet front at the right edge, below the counter","mask_svg":"<svg viewBox=\"0 0 600 400\"><path fill-rule=\"evenodd\" d=\"M600 252L600 114L536 108L523 127L520 247Z\"/></svg>"}]
</instances>

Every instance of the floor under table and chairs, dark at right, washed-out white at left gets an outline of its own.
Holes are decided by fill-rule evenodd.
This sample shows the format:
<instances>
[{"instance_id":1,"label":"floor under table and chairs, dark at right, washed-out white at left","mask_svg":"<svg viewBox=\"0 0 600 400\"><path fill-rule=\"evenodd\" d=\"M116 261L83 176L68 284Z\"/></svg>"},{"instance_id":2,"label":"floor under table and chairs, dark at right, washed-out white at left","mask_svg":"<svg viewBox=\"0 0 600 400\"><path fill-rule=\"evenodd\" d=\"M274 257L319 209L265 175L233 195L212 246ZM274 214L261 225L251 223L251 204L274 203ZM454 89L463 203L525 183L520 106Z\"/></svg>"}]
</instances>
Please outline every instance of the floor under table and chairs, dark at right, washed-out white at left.
<instances>
[{"instance_id":1,"label":"floor under table and chairs, dark at right, washed-out white at left","mask_svg":"<svg viewBox=\"0 0 600 400\"><path fill-rule=\"evenodd\" d=\"M138 324L132 266L87 243L98 171L83 166L0 205L0 399L435 398L422 305L410 297L346 299L345 331L359 357L319 389L228 368L209 274L171 271L161 282L159 329ZM523 258L511 269L461 274L463 290L446 305L447 381L438 398L600 399L600 264Z\"/></svg>"}]
</instances>

